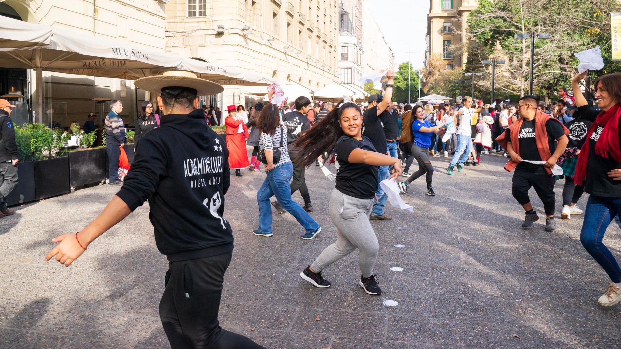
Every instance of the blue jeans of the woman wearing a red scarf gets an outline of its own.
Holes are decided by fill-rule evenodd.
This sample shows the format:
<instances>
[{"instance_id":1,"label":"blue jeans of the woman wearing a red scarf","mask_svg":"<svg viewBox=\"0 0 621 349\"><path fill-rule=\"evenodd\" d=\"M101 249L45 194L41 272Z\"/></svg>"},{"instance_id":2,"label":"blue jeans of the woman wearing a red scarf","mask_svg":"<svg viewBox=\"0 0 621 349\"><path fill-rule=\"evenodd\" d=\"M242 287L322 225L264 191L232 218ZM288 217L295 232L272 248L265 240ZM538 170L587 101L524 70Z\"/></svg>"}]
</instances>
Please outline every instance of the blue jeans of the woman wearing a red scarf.
<instances>
[{"instance_id":1,"label":"blue jeans of the woman wearing a red scarf","mask_svg":"<svg viewBox=\"0 0 621 349\"><path fill-rule=\"evenodd\" d=\"M621 268L602 240L606 228L618 212L621 212L621 198L591 195L584 209L580 231L582 246L604 268L613 283L621 283Z\"/></svg>"}]
</instances>

